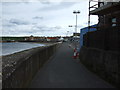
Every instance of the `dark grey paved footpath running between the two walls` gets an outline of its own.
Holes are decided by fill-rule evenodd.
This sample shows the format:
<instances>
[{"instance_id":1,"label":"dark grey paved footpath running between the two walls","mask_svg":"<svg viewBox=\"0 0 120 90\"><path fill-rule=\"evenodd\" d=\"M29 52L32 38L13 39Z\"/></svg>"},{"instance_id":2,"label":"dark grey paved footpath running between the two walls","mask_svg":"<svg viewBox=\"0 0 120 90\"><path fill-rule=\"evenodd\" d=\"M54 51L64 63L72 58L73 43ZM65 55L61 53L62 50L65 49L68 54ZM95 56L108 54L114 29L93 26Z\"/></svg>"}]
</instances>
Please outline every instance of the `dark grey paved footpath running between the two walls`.
<instances>
[{"instance_id":1,"label":"dark grey paved footpath running between the two walls","mask_svg":"<svg viewBox=\"0 0 120 90\"><path fill-rule=\"evenodd\" d=\"M30 88L113 88L72 56L73 49L63 43L37 73Z\"/></svg>"}]
</instances>

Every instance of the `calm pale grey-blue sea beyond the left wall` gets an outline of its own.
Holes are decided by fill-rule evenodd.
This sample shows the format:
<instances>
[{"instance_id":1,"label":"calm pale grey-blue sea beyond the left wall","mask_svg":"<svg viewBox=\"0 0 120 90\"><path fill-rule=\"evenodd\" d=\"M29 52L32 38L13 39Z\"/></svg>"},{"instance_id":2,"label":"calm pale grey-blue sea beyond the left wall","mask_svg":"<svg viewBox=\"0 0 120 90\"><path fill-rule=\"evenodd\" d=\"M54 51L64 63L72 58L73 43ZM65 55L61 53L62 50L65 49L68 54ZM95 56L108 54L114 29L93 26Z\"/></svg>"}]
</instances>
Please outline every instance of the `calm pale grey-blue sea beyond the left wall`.
<instances>
[{"instance_id":1,"label":"calm pale grey-blue sea beyond the left wall","mask_svg":"<svg viewBox=\"0 0 120 90\"><path fill-rule=\"evenodd\" d=\"M21 43L21 42L13 42L13 43L0 43L0 56L8 55L15 52L20 52L26 49L35 48L45 46L45 44L39 43Z\"/></svg>"}]
</instances>

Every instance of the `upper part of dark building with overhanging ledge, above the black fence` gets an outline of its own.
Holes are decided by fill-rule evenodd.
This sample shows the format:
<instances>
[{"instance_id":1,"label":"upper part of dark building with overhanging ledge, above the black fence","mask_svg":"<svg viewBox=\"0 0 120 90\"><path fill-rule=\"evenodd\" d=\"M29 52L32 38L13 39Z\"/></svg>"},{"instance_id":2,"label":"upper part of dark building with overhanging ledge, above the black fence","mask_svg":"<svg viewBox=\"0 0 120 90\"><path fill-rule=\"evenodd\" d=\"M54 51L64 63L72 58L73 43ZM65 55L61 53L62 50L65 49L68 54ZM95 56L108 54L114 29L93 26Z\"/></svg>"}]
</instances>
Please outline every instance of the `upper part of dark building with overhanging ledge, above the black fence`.
<instances>
[{"instance_id":1,"label":"upper part of dark building with overhanging ledge, above the black fence","mask_svg":"<svg viewBox=\"0 0 120 90\"><path fill-rule=\"evenodd\" d=\"M98 8L90 11L91 15L98 15L100 28L120 26L119 2L98 2Z\"/></svg>"}]
</instances>

